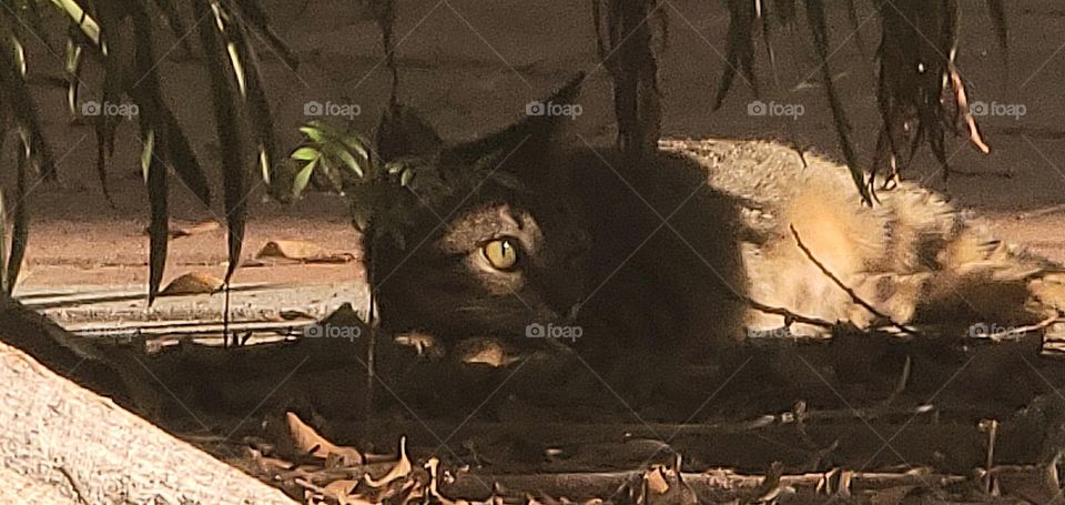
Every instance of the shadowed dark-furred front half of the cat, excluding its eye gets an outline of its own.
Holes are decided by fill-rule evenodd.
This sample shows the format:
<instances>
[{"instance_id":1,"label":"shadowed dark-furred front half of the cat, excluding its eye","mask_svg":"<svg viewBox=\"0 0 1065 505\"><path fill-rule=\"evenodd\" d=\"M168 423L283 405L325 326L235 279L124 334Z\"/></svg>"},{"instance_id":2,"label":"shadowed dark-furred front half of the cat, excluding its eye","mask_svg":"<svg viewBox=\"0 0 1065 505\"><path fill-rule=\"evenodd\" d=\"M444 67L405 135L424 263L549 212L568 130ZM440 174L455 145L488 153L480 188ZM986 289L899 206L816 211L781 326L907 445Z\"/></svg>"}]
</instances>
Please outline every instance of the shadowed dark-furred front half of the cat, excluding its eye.
<instances>
[{"instance_id":1,"label":"shadowed dark-furred front half of the cat, excluding its eye","mask_svg":"<svg viewBox=\"0 0 1065 505\"><path fill-rule=\"evenodd\" d=\"M574 94L564 89L549 100ZM445 179L489 160L514 182L489 178L436 208L416 198L403 246L366 244L382 326L446 346L493 337L521 347L544 343L526 336L529 324L577 325L580 354L597 374L619 378L677 360L706 362L718 343L739 336L724 333L741 327L737 290L746 283L723 224L737 222L731 199L682 156L627 169L609 150L574 148L565 122L531 117L432 155ZM486 267L479 248L499 236L521 244L517 271Z\"/></svg>"}]
</instances>

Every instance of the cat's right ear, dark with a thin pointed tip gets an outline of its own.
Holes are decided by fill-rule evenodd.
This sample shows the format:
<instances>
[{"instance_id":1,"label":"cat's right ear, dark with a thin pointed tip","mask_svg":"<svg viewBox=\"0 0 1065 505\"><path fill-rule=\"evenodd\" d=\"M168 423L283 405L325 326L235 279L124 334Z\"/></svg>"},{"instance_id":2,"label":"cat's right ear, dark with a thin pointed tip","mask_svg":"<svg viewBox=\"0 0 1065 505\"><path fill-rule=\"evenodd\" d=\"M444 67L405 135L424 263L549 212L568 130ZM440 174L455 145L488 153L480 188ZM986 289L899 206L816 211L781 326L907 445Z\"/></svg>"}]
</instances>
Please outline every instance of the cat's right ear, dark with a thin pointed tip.
<instances>
[{"instance_id":1,"label":"cat's right ear, dark with a thin pointed tip","mask_svg":"<svg viewBox=\"0 0 1065 505\"><path fill-rule=\"evenodd\" d=\"M544 100L526 105L525 118L485 138L452 147L443 158L455 166L485 161L503 163L500 169L519 178L551 176L550 156L571 142L572 123L580 114L577 97L585 73L579 72Z\"/></svg>"}]
</instances>

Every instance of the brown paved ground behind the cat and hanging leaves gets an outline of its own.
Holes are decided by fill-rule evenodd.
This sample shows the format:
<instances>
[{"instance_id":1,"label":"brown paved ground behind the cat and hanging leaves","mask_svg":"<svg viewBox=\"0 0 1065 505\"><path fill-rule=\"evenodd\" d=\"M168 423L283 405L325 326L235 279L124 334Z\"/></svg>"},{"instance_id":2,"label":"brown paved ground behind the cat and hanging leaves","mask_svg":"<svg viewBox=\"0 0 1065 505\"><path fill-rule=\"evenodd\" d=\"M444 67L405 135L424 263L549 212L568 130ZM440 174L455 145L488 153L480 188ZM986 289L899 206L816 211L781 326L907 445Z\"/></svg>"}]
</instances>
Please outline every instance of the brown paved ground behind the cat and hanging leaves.
<instances>
[{"instance_id":1,"label":"brown paved ground behind the cat and hanging leaves","mask_svg":"<svg viewBox=\"0 0 1065 505\"><path fill-rule=\"evenodd\" d=\"M354 2L266 1L281 36L302 64L287 68L264 50L262 55L282 145L298 140L296 128L307 120L307 101L355 103L356 123L369 131L388 90L377 30ZM798 104L795 118L749 115L754 97L742 80L724 107L711 111L711 99L724 65L728 28L723 2L673 0L669 10L671 40L662 69L665 133L690 137L774 138L838 154L835 133L825 112L816 59L804 29L778 36L775 74L759 51L765 103ZM845 17L835 26L831 70L853 127L863 159L874 147L876 105L874 67L868 58L879 33L872 6L859 2L858 37ZM976 175L940 178L927 152L919 156L910 179L949 194L962 209L986 219L996 233L1034 252L1065 262L1065 9L1052 0L1010 2L1010 65L1004 63L984 2L966 0L963 8L960 68L971 100L1023 105L1020 117L978 118L992 147L980 155L961 140L949 143L951 163ZM803 21L800 21L801 23ZM587 2L546 0L418 0L399 3L398 62L403 100L420 108L446 138L467 139L518 118L530 100L566 75L589 72L578 118L580 134L592 143L613 139L612 110L606 72L598 65L591 14ZM859 51L861 39L865 54ZM58 46L59 41L52 41ZM57 74L57 53L32 40L30 71ZM205 75L199 62L160 44L160 65L169 101L185 125L201 162L217 174L219 145ZM99 75L87 75L83 99L99 99ZM135 125L120 129L119 150L110 164L115 208L103 199L94 173L94 139L89 127L71 122L61 89L41 88L39 104L51 133L62 182L37 184L31 192L32 230L27 270L17 293L41 293L71 286L143 285L148 276L146 202L140 180L140 142ZM1015 110L1016 108L1014 108ZM8 145L11 145L9 143ZM10 163L10 153L4 162ZM219 181L215 176L213 180ZM10 182L10 181L9 181ZM204 209L174 183L173 214L186 220L219 219L221 184L215 205ZM313 194L283 208L267 201L262 188L250 198L252 215L244 254L247 259L268 240L313 241L328 251L357 256L357 235L348 225L346 205L335 196ZM172 241L166 279L191 271L221 274L225 269L224 232ZM244 267L237 283L342 283L358 292L358 262L329 265Z\"/></svg>"}]
</instances>

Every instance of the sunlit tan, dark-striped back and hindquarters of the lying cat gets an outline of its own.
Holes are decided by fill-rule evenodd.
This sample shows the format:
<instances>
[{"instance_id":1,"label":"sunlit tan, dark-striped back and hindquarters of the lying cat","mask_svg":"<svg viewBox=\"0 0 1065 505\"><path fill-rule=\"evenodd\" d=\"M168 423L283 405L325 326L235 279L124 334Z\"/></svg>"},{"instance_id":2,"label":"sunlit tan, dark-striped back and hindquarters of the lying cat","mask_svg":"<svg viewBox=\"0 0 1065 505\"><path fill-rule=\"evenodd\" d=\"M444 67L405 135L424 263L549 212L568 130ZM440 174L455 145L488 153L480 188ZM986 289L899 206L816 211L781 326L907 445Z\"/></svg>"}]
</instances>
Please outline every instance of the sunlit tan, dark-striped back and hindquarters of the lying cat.
<instances>
[{"instance_id":1,"label":"sunlit tan, dark-striped back and hindquarters of the lying cat","mask_svg":"<svg viewBox=\"0 0 1065 505\"><path fill-rule=\"evenodd\" d=\"M1048 264L995 240L919 184L878 184L869 206L844 164L788 145L710 139L660 147L694 161L714 191L734 199L747 292L757 302L831 322L874 323L842 281L895 322L954 320L964 327L1032 316L1023 309L1026 284ZM748 314L749 327L783 323Z\"/></svg>"}]
</instances>

